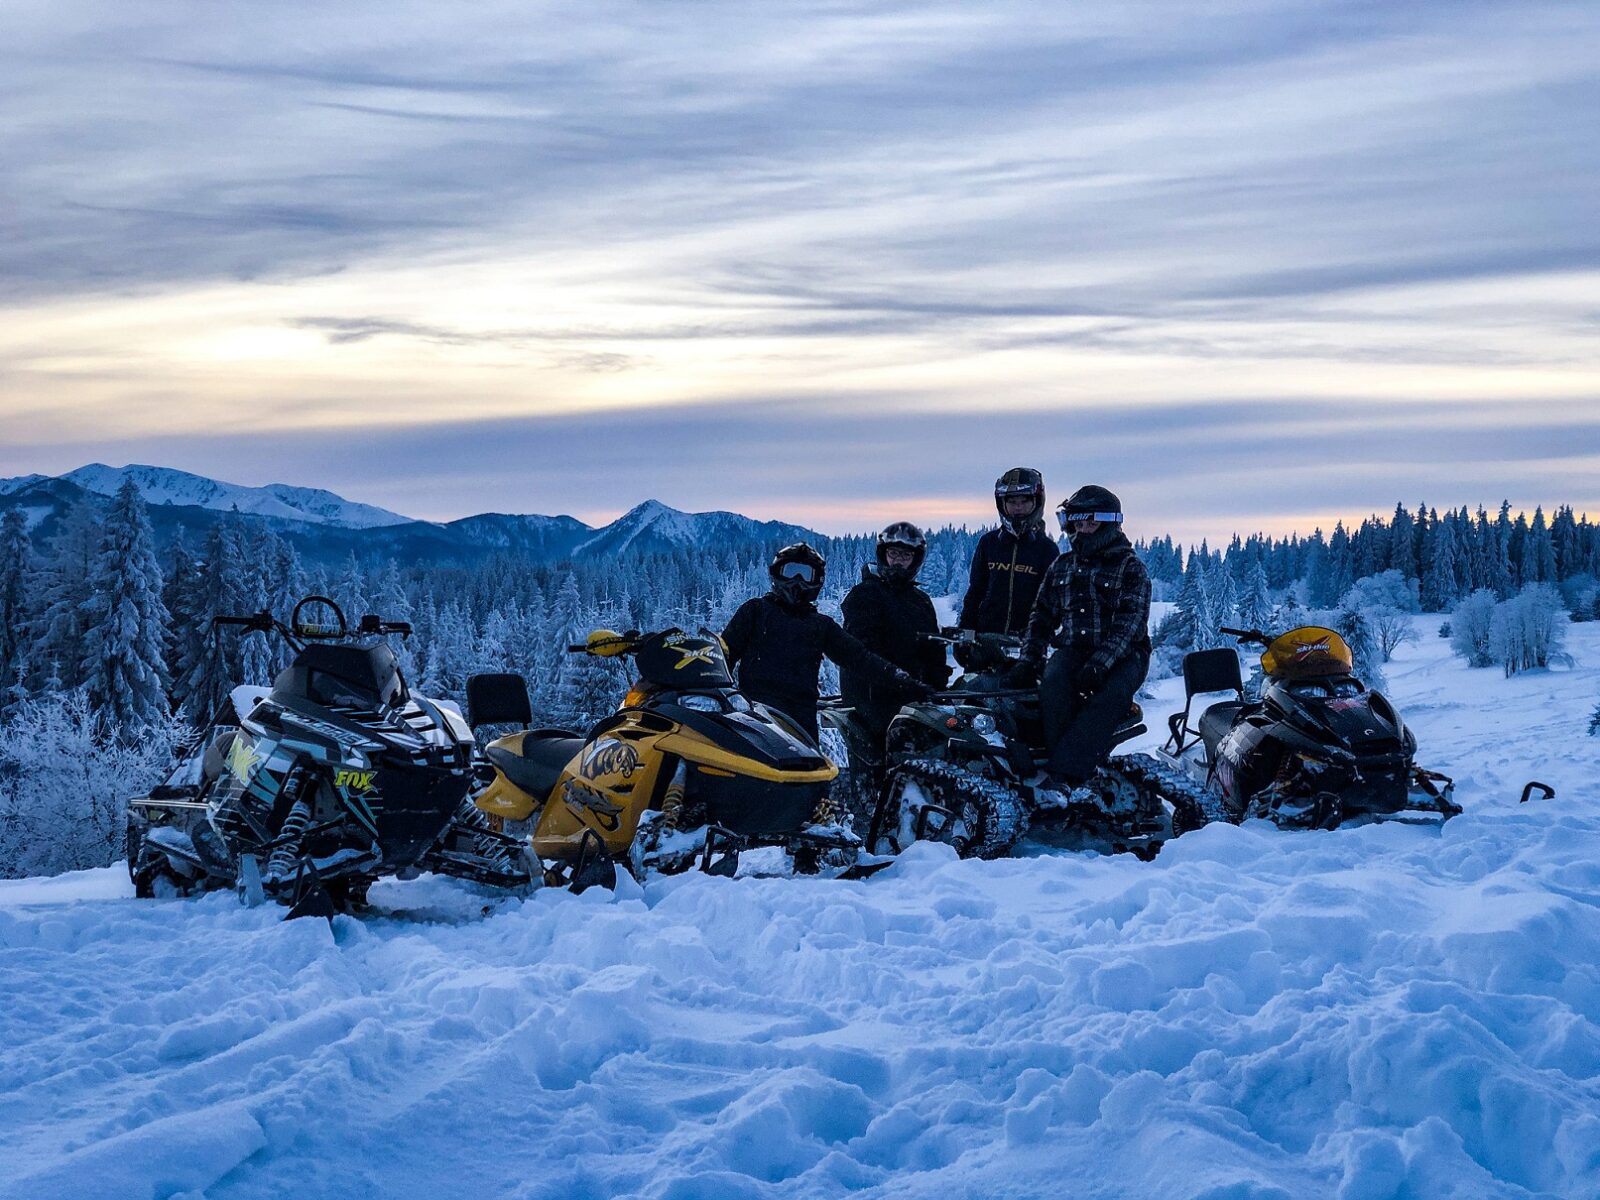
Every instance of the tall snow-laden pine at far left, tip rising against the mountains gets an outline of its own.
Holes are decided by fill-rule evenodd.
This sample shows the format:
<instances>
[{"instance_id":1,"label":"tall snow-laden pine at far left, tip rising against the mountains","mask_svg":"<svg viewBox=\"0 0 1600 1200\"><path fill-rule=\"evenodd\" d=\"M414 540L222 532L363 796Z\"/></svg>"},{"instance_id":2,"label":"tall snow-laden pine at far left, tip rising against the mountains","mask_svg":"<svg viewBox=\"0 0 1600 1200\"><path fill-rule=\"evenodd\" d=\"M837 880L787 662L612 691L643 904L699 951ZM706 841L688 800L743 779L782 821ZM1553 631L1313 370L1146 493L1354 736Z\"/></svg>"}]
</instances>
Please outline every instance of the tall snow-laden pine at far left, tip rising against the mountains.
<instances>
[{"instance_id":1,"label":"tall snow-laden pine at far left, tip rising against the mountains","mask_svg":"<svg viewBox=\"0 0 1600 1200\"><path fill-rule=\"evenodd\" d=\"M150 518L131 478L117 490L106 514L90 590L82 662L90 704L110 736L139 741L170 712L168 613Z\"/></svg>"}]
</instances>

